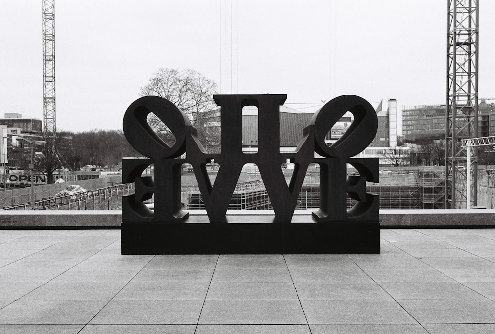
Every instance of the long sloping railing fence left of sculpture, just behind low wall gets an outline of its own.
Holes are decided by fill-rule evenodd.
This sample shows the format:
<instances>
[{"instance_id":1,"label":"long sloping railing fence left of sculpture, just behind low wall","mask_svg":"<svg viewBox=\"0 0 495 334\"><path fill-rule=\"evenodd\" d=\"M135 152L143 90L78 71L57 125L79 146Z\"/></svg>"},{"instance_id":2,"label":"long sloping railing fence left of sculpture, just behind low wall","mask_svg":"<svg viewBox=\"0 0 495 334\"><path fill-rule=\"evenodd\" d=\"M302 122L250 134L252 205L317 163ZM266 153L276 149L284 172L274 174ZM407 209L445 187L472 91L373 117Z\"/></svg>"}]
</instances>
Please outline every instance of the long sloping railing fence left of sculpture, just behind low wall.
<instances>
[{"instance_id":1,"label":"long sloping railing fence left of sculpture, just behind low wall","mask_svg":"<svg viewBox=\"0 0 495 334\"><path fill-rule=\"evenodd\" d=\"M122 196L132 193L134 183L119 184L37 201L34 203L34 210L120 210ZM33 205L22 204L3 210L33 210Z\"/></svg>"}]
</instances>

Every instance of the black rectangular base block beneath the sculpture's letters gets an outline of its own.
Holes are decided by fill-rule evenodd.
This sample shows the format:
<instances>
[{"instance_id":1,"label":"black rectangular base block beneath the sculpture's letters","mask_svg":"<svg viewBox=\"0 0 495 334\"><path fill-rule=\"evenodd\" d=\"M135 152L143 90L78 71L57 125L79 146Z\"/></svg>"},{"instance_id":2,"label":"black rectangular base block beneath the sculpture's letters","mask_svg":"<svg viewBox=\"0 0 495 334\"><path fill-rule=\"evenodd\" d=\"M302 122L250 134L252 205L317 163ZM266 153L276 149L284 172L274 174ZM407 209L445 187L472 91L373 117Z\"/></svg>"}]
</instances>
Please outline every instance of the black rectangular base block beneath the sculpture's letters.
<instances>
[{"instance_id":1,"label":"black rectangular base block beneath the sculpture's letters","mask_svg":"<svg viewBox=\"0 0 495 334\"><path fill-rule=\"evenodd\" d=\"M380 223L122 223L122 254L380 254Z\"/></svg>"}]
</instances>

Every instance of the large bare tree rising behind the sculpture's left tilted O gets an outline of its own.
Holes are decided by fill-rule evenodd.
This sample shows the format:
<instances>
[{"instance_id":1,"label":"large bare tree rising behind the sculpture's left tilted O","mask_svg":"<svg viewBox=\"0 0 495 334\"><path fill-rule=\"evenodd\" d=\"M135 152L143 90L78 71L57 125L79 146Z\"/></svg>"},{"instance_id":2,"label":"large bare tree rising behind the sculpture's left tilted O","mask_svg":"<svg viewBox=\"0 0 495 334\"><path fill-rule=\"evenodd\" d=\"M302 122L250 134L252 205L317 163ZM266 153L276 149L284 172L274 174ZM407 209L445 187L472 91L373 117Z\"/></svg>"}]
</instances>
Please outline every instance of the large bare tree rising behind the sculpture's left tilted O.
<instances>
[{"instance_id":1,"label":"large bare tree rising behind the sculpture's left tilted O","mask_svg":"<svg viewBox=\"0 0 495 334\"><path fill-rule=\"evenodd\" d=\"M205 147L212 147L219 143L219 129L205 129L205 120L217 115L218 107L213 101L216 93L217 84L195 70L162 68L141 88L140 95L160 96L175 104L198 130L199 141ZM165 143L175 143L173 134L156 115L148 116L148 124Z\"/></svg>"}]
</instances>

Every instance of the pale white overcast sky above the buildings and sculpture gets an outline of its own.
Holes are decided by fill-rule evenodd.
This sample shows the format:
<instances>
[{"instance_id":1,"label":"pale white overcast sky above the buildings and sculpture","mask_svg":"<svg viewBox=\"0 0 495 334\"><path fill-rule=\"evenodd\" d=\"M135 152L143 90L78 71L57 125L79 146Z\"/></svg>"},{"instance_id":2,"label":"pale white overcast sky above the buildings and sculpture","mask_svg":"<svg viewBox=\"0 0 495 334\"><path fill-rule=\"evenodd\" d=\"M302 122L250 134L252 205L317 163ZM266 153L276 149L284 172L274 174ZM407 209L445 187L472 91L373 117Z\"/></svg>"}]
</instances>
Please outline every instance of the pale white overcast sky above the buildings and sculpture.
<instances>
[{"instance_id":1,"label":"pale white overcast sky above the buildings and sculpture","mask_svg":"<svg viewBox=\"0 0 495 334\"><path fill-rule=\"evenodd\" d=\"M495 1L480 2L479 96L495 97ZM399 110L445 104L446 0L238 0L232 84L221 70L230 3L57 0L57 129L120 129L162 67L193 68L224 93L286 93L287 103L353 94L384 107L396 98ZM0 0L0 117L43 119L41 4Z\"/></svg>"}]
</instances>

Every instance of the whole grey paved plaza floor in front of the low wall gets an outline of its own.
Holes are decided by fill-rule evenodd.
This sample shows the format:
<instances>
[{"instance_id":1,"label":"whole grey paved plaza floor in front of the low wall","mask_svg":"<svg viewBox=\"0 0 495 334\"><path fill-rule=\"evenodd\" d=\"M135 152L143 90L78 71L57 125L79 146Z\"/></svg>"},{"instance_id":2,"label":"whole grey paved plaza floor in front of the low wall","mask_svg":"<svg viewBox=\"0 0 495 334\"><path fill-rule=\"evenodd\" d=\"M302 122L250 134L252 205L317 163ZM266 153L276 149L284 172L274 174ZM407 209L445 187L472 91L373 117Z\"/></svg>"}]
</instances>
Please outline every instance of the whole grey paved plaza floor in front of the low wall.
<instances>
[{"instance_id":1,"label":"whole grey paved plaza floor in front of the low wall","mask_svg":"<svg viewBox=\"0 0 495 334\"><path fill-rule=\"evenodd\" d=\"M380 255L121 255L120 230L0 230L0 333L493 333L495 229Z\"/></svg>"}]
</instances>

